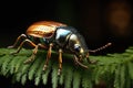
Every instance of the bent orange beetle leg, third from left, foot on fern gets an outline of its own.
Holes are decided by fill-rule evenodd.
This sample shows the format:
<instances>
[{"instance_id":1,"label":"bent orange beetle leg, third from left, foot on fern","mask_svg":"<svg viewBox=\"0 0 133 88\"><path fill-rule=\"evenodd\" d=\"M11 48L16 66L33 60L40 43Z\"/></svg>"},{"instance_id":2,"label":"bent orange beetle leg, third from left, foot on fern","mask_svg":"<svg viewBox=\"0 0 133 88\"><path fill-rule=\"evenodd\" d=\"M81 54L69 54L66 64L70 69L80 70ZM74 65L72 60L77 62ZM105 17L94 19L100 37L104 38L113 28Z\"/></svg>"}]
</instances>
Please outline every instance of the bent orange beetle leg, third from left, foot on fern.
<instances>
[{"instance_id":1,"label":"bent orange beetle leg, third from left, foot on fern","mask_svg":"<svg viewBox=\"0 0 133 88\"><path fill-rule=\"evenodd\" d=\"M32 55L24 62L24 64L29 64L29 63L31 63L32 61L34 61L39 47L47 48L44 45L42 45L42 44L40 44L40 43L39 43L38 45L35 45L35 47L34 47L34 50L33 50L33 52L32 52Z\"/></svg>"}]
</instances>

